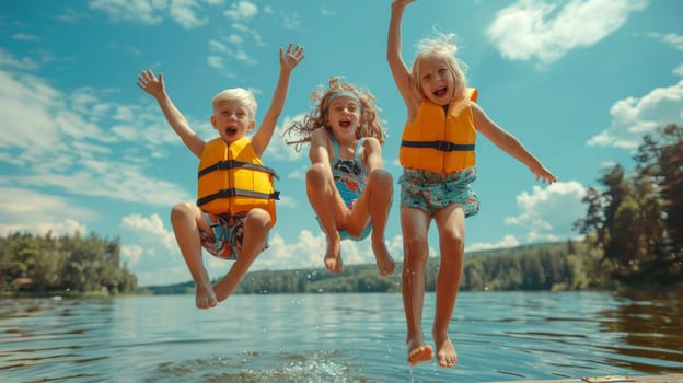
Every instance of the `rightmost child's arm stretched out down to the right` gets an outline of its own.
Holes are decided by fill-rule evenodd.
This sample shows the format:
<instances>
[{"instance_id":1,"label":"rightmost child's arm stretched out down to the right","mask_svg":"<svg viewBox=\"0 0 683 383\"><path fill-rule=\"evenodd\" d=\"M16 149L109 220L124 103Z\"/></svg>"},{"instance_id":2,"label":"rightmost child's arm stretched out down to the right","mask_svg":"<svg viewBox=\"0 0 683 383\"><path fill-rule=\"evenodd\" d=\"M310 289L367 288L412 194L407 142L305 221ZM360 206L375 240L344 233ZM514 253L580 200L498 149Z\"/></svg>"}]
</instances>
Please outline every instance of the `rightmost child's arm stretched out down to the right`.
<instances>
[{"instance_id":1,"label":"rightmost child's arm stretched out down to the right","mask_svg":"<svg viewBox=\"0 0 683 383\"><path fill-rule=\"evenodd\" d=\"M514 136L494 123L477 104L471 103L471 105L474 117L474 126L478 131L486 136L486 138L488 138L502 151L529 166L529 170L536 175L536 181L542 179L544 184L545 182L548 184L557 182L557 177L545 169L541 161L531 154L531 152L529 152Z\"/></svg>"}]
</instances>

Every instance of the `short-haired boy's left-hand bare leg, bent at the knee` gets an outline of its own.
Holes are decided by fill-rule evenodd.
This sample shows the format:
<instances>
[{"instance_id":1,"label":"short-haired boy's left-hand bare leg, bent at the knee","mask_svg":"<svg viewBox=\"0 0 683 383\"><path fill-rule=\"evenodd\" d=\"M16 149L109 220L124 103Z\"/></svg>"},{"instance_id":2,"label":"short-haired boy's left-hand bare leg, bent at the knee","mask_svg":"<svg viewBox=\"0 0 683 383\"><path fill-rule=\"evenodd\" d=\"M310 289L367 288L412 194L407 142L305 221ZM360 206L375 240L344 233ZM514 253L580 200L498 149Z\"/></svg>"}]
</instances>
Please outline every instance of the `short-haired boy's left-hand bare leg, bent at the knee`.
<instances>
[{"instance_id":1,"label":"short-haired boy's left-hand bare leg, bent at the knee","mask_svg":"<svg viewBox=\"0 0 683 383\"><path fill-rule=\"evenodd\" d=\"M201 259L199 225L204 224L204 221L201 210L194 205L181 202L171 210L175 240L195 281L195 303L198 309L210 309L216 305L217 299Z\"/></svg>"}]
</instances>

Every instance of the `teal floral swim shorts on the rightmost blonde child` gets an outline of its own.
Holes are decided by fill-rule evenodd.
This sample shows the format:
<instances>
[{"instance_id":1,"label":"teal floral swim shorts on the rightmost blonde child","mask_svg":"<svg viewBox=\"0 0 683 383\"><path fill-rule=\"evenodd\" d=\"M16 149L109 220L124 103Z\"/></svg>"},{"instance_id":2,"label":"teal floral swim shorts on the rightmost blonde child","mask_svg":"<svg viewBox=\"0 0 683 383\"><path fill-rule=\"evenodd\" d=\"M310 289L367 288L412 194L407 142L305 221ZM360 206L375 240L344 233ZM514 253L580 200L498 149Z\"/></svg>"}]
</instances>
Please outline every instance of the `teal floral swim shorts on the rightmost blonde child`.
<instances>
[{"instance_id":1,"label":"teal floral swim shorts on the rightmost blonde child","mask_svg":"<svg viewBox=\"0 0 683 383\"><path fill-rule=\"evenodd\" d=\"M476 167L450 174L405 169L398 178L401 206L417 208L433 216L451 204L460 205L465 217L479 212L479 197L470 184L476 179Z\"/></svg>"}]
</instances>

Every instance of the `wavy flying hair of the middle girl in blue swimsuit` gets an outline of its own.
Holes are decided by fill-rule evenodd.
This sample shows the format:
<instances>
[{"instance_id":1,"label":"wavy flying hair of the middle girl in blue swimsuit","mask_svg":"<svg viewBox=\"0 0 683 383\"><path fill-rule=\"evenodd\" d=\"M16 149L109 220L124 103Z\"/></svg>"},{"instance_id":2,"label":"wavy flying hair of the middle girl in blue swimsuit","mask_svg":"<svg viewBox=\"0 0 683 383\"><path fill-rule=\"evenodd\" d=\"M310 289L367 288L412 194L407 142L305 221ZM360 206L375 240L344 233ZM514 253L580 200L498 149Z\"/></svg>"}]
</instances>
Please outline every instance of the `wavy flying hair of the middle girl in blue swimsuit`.
<instances>
[{"instance_id":1,"label":"wavy flying hair of the middle girl in blue swimsuit","mask_svg":"<svg viewBox=\"0 0 683 383\"><path fill-rule=\"evenodd\" d=\"M315 129L325 128L332 135L332 127L325 123L325 117L329 112L329 104L339 95L355 97L360 104L360 125L356 129L356 138L374 137L380 144L384 144L386 131L378 117L374 95L367 89L360 90L352 84L339 82L338 77L329 79L329 86L326 91L323 85L319 85L311 94L315 108L303 119L291 123L282 132L282 136L293 138L291 141L286 140L287 144L293 144L296 151L301 151L305 143L311 142L311 136Z\"/></svg>"}]
</instances>

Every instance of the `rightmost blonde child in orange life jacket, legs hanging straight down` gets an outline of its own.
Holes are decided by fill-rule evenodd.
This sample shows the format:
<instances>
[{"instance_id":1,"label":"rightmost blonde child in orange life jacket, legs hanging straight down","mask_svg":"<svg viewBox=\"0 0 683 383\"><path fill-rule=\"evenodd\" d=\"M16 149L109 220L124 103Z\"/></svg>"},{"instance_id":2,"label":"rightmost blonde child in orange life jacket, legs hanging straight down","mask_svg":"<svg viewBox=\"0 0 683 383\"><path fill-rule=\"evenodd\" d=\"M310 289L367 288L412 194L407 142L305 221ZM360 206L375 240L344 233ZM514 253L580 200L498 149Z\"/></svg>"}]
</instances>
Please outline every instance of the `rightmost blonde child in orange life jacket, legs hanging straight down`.
<instances>
[{"instance_id":1,"label":"rightmost blonde child in orange life jacket, legs hanging straight down","mask_svg":"<svg viewBox=\"0 0 683 383\"><path fill-rule=\"evenodd\" d=\"M454 35L422 40L413 68L401 56L401 20L413 0L392 2L386 59L407 107L400 161L403 230L403 304L407 325L408 362L431 360L432 348L421 329L427 233L433 219L441 253L436 286L432 336L441 367L453 367L458 353L448 328L463 268L465 217L477 213L479 201L470 184L476 177L475 129L531 170L536 179L556 181L511 134L500 128L474 102L455 58ZM448 115L448 118L447 118Z\"/></svg>"}]
</instances>

